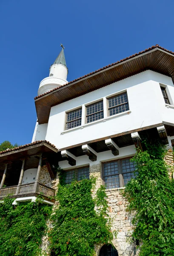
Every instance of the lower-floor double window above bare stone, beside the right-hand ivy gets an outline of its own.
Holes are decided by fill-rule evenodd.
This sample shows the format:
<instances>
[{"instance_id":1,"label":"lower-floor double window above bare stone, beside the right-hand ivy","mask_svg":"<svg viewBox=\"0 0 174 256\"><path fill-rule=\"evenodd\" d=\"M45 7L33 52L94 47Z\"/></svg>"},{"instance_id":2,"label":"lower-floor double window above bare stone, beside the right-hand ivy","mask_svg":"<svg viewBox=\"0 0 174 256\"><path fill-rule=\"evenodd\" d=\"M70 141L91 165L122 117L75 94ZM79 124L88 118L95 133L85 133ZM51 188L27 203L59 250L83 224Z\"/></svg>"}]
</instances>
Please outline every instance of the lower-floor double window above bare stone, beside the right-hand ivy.
<instances>
[{"instance_id":1,"label":"lower-floor double window above bare stone, beside the right-hand ivy","mask_svg":"<svg viewBox=\"0 0 174 256\"><path fill-rule=\"evenodd\" d=\"M103 181L106 189L126 186L135 177L135 165L130 158L103 163ZM137 175L137 172L136 172Z\"/></svg>"}]
</instances>

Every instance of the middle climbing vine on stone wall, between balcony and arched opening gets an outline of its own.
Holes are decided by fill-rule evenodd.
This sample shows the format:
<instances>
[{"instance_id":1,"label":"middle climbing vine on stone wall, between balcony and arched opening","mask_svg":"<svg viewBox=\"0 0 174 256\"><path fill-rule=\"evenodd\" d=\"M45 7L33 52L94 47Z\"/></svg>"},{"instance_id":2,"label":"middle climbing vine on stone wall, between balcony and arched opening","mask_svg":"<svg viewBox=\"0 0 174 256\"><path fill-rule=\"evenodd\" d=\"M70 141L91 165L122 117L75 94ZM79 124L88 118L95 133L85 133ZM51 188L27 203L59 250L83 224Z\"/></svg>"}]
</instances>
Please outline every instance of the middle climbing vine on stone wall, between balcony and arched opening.
<instances>
[{"instance_id":1,"label":"middle climbing vine on stone wall, between balcony and arched opening","mask_svg":"<svg viewBox=\"0 0 174 256\"><path fill-rule=\"evenodd\" d=\"M56 200L59 202L52 215L53 228L49 240L53 255L94 256L94 244L112 239L108 224L105 189L98 189L92 198L95 179L74 180L65 185L60 171L60 185ZM97 207L97 211L94 209Z\"/></svg>"}]
</instances>

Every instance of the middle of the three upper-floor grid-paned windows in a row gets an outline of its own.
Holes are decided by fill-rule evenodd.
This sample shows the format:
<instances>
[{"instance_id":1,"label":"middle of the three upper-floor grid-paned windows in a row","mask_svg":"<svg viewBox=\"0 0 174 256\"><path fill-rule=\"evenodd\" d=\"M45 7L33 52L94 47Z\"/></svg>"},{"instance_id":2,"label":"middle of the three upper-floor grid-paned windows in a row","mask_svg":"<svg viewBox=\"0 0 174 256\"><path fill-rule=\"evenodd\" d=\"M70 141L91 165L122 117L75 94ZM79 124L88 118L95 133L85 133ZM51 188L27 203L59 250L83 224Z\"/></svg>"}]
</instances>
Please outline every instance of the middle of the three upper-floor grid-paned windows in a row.
<instances>
[{"instance_id":1,"label":"middle of the three upper-floor grid-paned windows in a row","mask_svg":"<svg viewBox=\"0 0 174 256\"><path fill-rule=\"evenodd\" d=\"M86 122L94 122L103 118L103 101L93 103L86 107Z\"/></svg>"}]
</instances>

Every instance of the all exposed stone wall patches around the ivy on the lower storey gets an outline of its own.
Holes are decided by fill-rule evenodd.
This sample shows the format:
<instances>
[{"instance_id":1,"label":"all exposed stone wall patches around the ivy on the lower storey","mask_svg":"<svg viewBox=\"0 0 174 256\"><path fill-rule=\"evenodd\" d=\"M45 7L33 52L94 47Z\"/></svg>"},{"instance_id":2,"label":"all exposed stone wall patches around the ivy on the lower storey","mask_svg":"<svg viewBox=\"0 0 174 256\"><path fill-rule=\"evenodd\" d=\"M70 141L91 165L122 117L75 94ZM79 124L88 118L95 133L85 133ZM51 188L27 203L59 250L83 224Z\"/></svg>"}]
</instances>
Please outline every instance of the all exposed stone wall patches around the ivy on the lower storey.
<instances>
[{"instance_id":1,"label":"all exposed stone wall patches around the ivy on the lower storey","mask_svg":"<svg viewBox=\"0 0 174 256\"><path fill-rule=\"evenodd\" d=\"M169 173L170 175L173 172L174 169L174 157L173 157L173 151L171 148L168 148L168 151L164 158L165 162L169 166ZM90 177L96 177L96 187L93 191L93 197L95 196L95 193L97 189L100 188L102 185L102 169L101 169L101 163L94 164L90 166ZM46 166L43 166L40 173L40 182L51 186L54 189L57 188L57 184L59 183L58 175L56 180L51 181L51 178L48 173L48 169ZM133 248L134 243L131 238L131 233L133 231L133 226L131 224L131 220L133 218L133 215L130 215L126 211L127 202L125 198L123 197L123 188L118 189L106 189L106 195L107 195L107 201L108 201L108 215L111 218L111 231L117 231L117 237L113 239L113 245L118 251L119 256L134 256ZM55 203L54 207L57 207L57 202ZM54 214L54 207L53 207L53 214ZM51 228L51 223L48 221L48 227ZM95 251L96 256L99 256L100 248L103 244L97 244L95 245ZM43 237L43 255L46 253L46 255L49 255L48 251L48 237ZM138 251L136 253L136 256L138 256Z\"/></svg>"}]
</instances>

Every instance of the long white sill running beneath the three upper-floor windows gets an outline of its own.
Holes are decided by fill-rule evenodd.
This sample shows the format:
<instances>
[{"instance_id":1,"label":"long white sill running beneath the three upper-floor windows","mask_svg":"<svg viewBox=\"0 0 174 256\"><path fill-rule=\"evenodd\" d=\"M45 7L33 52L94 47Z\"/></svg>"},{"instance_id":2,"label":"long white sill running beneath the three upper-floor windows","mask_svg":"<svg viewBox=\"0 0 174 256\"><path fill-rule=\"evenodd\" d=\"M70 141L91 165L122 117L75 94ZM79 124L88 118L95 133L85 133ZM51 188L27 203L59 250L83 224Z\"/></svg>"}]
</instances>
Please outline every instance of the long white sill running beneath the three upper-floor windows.
<instances>
[{"instance_id":1,"label":"long white sill running beneath the three upper-floor windows","mask_svg":"<svg viewBox=\"0 0 174 256\"><path fill-rule=\"evenodd\" d=\"M71 132L71 131L74 131L74 130L83 129L87 126L94 125L94 124L99 123L99 122L106 122L107 120L112 119L112 118L117 118L119 116L124 116L126 114L129 115L130 113L131 113L131 111L128 110L128 111L125 111L125 112L122 112L122 113L119 113L119 114L116 114L116 115L113 115L113 116L107 116L106 118L103 118L103 119L100 119L100 120L97 120L97 121L94 121L94 122L90 122L88 124L80 125L80 126L71 128L69 130L62 131L60 134L63 135L65 133L68 133L68 132Z\"/></svg>"}]
</instances>

